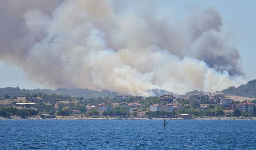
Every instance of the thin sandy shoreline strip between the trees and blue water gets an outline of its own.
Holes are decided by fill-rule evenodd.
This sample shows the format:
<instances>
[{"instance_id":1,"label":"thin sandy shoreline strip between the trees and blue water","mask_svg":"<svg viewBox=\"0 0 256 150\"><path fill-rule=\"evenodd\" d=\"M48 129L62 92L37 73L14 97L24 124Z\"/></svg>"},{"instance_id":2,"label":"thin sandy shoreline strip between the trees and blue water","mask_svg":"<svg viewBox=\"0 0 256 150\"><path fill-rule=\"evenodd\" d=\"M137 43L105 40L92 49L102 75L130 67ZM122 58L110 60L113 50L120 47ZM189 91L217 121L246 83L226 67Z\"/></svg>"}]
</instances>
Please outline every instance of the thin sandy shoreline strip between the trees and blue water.
<instances>
[{"instance_id":1,"label":"thin sandy shoreline strip between the trees and blue water","mask_svg":"<svg viewBox=\"0 0 256 150\"><path fill-rule=\"evenodd\" d=\"M61 117L56 118L40 118L40 117L0 117L0 120L149 120L149 118L76 118L76 117ZM152 118L152 120L188 120L183 118ZM193 120L256 120L256 117L202 117L193 118Z\"/></svg>"}]
</instances>

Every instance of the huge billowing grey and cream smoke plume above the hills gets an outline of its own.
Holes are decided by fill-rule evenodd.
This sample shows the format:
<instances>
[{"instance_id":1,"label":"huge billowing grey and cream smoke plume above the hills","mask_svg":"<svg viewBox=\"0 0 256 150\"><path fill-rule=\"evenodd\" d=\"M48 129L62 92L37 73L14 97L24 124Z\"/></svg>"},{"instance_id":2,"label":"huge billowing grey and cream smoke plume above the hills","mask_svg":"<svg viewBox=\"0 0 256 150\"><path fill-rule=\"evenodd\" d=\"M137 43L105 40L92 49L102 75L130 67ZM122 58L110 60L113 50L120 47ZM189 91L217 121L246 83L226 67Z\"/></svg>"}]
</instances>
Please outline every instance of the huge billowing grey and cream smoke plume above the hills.
<instances>
[{"instance_id":1,"label":"huge billowing grey and cream smoke plume above the hills","mask_svg":"<svg viewBox=\"0 0 256 150\"><path fill-rule=\"evenodd\" d=\"M153 1L33 2L0 2L0 59L42 85L146 95L244 82L240 54L213 8L174 22Z\"/></svg>"}]
</instances>

